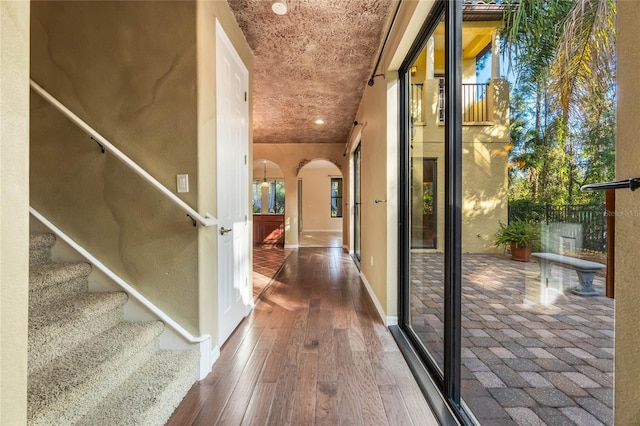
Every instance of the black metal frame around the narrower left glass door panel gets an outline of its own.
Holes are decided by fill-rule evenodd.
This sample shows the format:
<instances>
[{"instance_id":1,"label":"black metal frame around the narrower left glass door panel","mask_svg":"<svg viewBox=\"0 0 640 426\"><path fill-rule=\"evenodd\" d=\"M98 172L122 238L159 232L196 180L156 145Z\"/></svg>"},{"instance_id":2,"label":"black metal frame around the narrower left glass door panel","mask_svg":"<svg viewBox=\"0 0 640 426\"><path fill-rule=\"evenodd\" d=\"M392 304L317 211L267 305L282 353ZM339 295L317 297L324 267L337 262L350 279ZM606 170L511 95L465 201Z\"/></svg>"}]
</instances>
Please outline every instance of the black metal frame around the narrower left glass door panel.
<instances>
[{"instance_id":1,"label":"black metal frame around the narrower left glass door panel","mask_svg":"<svg viewBox=\"0 0 640 426\"><path fill-rule=\"evenodd\" d=\"M438 0L399 69L400 174L398 326L390 327L442 424L474 424L460 399L462 318L462 0ZM410 69L428 38L445 23L444 370L430 360L410 327Z\"/></svg>"}]
</instances>

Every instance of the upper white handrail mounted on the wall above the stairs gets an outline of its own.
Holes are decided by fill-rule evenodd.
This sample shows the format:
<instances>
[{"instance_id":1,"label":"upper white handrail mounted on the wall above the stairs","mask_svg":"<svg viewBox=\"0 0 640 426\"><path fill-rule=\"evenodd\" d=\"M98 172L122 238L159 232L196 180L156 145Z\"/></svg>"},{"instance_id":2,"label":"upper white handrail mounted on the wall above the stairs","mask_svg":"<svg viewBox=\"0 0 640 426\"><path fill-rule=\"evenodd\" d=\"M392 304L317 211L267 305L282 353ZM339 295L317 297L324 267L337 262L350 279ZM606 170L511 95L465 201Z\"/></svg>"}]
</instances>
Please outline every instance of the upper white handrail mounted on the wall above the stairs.
<instances>
[{"instance_id":1,"label":"upper white handrail mounted on the wall above the stairs","mask_svg":"<svg viewBox=\"0 0 640 426\"><path fill-rule=\"evenodd\" d=\"M109 142L106 138L104 138L100 133L95 131L91 126L85 123L80 117L71 112L66 106L64 106L60 101L54 98L49 92L40 87L35 81L29 80L29 84L34 92L39 94L44 100L53 105L58 111L63 113L67 118L69 118L73 123L75 123L78 127L84 130L88 135L90 135L103 150L109 151L113 154L117 159L122 161L127 167L133 170L136 174L142 177L144 180L149 182L152 186L154 186L158 191L162 192L169 200L173 201L181 210L187 213L187 216L191 218L193 225L196 226L196 223L199 223L202 226L212 226L218 223L218 220L209 213L205 213L202 216L200 213L195 211L190 205L182 201L178 198L173 192L171 192L166 186L161 184L156 178L151 176L146 170L140 167L136 162L134 162L131 158L127 157L122 151L116 148L111 142ZM104 152L104 151L103 151Z\"/></svg>"}]
</instances>

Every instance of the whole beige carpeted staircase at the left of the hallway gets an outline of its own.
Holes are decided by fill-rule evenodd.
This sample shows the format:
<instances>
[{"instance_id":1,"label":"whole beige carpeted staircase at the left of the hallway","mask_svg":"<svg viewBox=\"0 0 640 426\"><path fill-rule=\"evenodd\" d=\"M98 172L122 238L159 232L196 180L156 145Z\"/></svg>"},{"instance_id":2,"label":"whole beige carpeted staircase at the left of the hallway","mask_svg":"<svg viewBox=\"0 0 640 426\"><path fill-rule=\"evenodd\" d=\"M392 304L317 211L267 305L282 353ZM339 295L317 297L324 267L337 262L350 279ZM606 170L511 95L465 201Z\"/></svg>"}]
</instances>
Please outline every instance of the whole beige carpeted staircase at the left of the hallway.
<instances>
[{"instance_id":1,"label":"whole beige carpeted staircase at the left of the hallway","mask_svg":"<svg viewBox=\"0 0 640 426\"><path fill-rule=\"evenodd\" d=\"M197 351L160 350L160 321L123 319L124 292L90 293L88 263L30 239L28 423L163 425L196 381Z\"/></svg>"}]
</instances>

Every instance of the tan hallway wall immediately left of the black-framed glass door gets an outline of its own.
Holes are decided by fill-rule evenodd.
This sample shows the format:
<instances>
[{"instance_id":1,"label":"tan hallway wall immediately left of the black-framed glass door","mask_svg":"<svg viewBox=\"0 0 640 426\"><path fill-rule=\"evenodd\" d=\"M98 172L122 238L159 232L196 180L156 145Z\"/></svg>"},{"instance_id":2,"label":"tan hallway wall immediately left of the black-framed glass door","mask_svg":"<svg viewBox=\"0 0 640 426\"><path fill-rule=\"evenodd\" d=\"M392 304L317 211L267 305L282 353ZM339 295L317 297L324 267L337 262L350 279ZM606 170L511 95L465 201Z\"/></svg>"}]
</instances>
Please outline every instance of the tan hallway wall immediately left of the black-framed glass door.
<instances>
[{"instance_id":1,"label":"tan hallway wall immediately left of the black-framed glass door","mask_svg":"<svg viewBox=\"0 0 640 426\"><path fill-rule=\"evenodd\" d=\"M403 2L377 71L386 70L385 78L378 77L373 86L365 87L356 114L356 120L365 125L357 126L357 131L353 132L349 141L350 158L357 144L361 144L361 273L370 284L377 305L386 317L394 317L398 312L397 69L432 6L433 1ZM348 197L351 183L345 185L345 197ZM375 203L376 199L386 202ZM351 214L352 209L349 209L349 214L345 212L345 235L352 227ZM345 238L346 241L350 239ZM353 247L350 249L353 250Z\"/></svg>"}]
</instances>

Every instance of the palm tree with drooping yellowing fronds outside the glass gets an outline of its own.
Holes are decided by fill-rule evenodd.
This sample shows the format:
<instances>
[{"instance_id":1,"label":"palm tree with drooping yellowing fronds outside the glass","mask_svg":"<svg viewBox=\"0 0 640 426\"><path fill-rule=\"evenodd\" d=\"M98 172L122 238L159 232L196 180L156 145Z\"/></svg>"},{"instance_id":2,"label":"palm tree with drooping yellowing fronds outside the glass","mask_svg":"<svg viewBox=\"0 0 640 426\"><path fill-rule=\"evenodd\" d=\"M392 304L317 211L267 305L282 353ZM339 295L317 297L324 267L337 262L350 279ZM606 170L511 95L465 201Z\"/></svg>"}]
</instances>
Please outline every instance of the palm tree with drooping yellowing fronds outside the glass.
<instances>
[{"instance_id":1,"label":"palm tree with drooping yellowing fronds outside the glass","mask_svg":"<svg viewBox=\"0 0 640 426\"><path fill-rule=\"evenodd\" d=\"M615 0L506 1L513 7L506 9L503 39L515 58L510 63L515 64L516 85L535 99L529 132L537 135L540 156L526 167L537 168L536 177L544 179L557 161L545 152L563 153L556 173L566 188L564 201L572 202L574 186L592 168L583 164L582 152L589 152L592 143L583 129L597 128L598 120L611 124L611 115L594 114L594 105L615 105ZM536 181L537 193L554 193L549 183Z\"/></svg>"}]
</instances>

